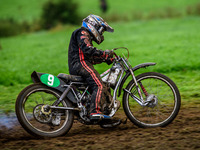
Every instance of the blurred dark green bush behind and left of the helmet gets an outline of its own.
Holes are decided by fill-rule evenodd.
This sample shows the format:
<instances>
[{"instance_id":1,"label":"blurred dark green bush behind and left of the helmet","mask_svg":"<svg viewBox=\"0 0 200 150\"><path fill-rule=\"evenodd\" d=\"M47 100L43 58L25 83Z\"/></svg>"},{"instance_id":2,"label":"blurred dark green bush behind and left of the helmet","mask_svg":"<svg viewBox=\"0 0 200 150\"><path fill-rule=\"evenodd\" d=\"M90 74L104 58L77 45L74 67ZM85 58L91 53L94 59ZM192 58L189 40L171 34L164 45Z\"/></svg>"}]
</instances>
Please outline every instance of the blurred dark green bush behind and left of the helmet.
<instances>
[{"instance_id":1,"label":"blurred dark green bush behind and left of the helmet","mask_svg":"<svg viewBox=\"0 0 200 150\"><path fill-rule=\"evenodd\" d=\"M78 5L73 0L50 0L43 6L41 25L49 29L59 23L79 23Z\"/></svg>"}]
</instances>

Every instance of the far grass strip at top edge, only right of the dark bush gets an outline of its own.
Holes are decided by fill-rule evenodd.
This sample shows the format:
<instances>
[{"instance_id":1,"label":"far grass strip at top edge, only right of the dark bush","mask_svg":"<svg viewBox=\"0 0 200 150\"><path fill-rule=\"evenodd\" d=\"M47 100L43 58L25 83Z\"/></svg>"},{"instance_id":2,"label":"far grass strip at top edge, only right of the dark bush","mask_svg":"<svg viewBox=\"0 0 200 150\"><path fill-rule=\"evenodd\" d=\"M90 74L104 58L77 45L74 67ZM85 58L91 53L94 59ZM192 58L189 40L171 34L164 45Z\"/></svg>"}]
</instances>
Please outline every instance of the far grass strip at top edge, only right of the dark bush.
<instances>
[{"instance_id":1,"label":"far grass strip at top edge, only right of the dark bush","mask_svg":"<svg viewBox=\"0 0 200 150\"><path fill-rule=\"evenodd\" d=\"M90 13L102 14L99 9L99 3L94 0L75 0L79 3L81 14L88 15ZM166 1L155 1L155 0L107 0L108 2L108 15L109 14L126 14L127 16L132 15L132 12L143 12L148 14L155 10L163 10L165 8L179 9L180 12L184 13L185 8L188 5L194 5L198 3L198 0L166 0Z\"/></svg>"}]
</instances>

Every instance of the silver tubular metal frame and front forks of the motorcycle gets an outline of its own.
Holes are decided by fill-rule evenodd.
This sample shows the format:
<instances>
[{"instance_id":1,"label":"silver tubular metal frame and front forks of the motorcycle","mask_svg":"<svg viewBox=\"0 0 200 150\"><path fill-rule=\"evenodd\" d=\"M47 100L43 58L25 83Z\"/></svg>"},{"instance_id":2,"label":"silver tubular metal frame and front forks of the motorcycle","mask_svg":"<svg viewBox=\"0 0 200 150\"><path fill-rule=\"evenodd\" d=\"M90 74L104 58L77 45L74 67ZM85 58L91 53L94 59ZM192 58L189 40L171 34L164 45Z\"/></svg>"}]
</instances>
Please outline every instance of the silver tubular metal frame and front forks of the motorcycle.
<instances>
[{"instance_id":1,"label":"silver tubular metal frame and front forks of the motorcycle","mask_svg":"<svg viewBox=\"0 0 200 150\"><path fill-rule=\"evenodd\" d=\"M135 95L131 95L132 98L138 103L140 104L141 106L146 106L145 104L145 101L143 99L143 96L142 96L142 93L140 91L140 88L139 88L139 85L137 83L137 80L136 80L136 77L134 75L134 71L135 70L138 70L140 68L144 68L144 67L148 67L148 66L152 66L152 65L155 65L156 63L144 63L144 64L140 64L140 65L137 65L135 66L134 68L131 67L130 63L128 63L128 61L126 59L124 59L123 57L122 58L118 58L116 59L116 61L114 63L119 63L120 66L122 67L122 71L119 75L119 78L118 78L118 81L116 83L116 86L114 88L114 91L113 91L113 100L114 100L114 107L110 113L109 116L113 116L116 111L117 111L117 91L118 90L121 90L121 88L123 87L123 84L125 83L126 79L131 75L133 80L134 80L134 83L136 85L136 88L137 88L137 92L139 94L139 98ZM107 74L110 72L110 69L106 70L104 73L101 74L101 76ZM126 74L124 75L124 72L126 72ZM82 82L71 82L69 85L64 85L63 87L67 87L66 90L63 92L63 94L61 95L61 97L54 103L54 106L50 106L50 108L52 109L66 109L66 110L81 110L84 109L84 106L82 105L81 103L81 100L83 98L83 96L85 95L85 93L87 92L89 86L87 86L85 88L85 90L83 91L82 95L80 98L78 98L78 95L76 94L76 91L74 90L73 86L74 85L83 85L85 83L82 83ZM56 107L58 106L58 104L66 97L66 95L68 94L69 91L72 91L73 95L75 96L75 98L77 99L77 106L78 106L78 109L75 109L75 108L60 108L60 107ZM130 91L126 90L126 89L123 89L125 92L128 92L131 94ZM121 91L119 91L121 93ZM120 96L120 94L118 94L118 97Z\"/></svg>"}]
</instances>

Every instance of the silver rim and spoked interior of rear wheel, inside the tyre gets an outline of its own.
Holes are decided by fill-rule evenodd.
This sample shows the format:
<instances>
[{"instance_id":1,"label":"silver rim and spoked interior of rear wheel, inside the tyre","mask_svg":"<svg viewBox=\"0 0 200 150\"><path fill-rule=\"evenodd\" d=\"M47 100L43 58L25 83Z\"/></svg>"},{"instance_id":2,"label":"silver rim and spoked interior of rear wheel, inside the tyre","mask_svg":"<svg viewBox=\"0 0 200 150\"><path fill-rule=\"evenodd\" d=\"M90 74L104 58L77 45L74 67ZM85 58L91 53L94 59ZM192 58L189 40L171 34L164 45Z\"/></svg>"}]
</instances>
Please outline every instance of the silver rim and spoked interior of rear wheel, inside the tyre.
<instances>
[{"instance_id":1,"label":"silver rim and spoked interior of rear wheel, inside the tyre","mask_svg":"<svg viewBox=\"0 0 200 150\"><path fill-rule=\"evenodd\" d=\"M42 108L43 105L52 105L59 97L60 96L58 93L50 89L38 88L30 91L23 99L22 104L23 117L28 125L30 125L33 129L46 134L51 134L62 130L69 118L69 112L67 110L60 112L55 112L52 110L51 115L49 113L47 114L48 116L42 116L43 114L39 112L40 106ZM67 105L63 101L61 104L59 104L59 106L66 107ZM37 115L36 108L38 109L38 114L40 113L41 116ZM40 118L40 121L36 118L36 116ZM60 124L58 125L58 123Z\"/></svg>"}]
</instances>

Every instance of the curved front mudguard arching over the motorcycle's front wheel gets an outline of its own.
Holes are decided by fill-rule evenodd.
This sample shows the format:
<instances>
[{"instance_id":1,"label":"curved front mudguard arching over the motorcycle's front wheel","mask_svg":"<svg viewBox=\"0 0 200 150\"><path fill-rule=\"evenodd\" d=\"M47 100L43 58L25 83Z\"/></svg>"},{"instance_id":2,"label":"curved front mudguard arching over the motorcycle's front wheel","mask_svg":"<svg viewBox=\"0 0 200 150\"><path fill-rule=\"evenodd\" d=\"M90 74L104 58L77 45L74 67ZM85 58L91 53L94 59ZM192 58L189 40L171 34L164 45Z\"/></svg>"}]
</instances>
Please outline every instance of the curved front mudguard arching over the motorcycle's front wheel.
<instances>
[{"instance_id":1,"label":"curved front mudguard arching over the motorcycle's front wheel","mask_svg":"<svg viewBox=\"0 0 200 150\"><path fill-rule=\"evenodd\" d=\"M143 63L143 64L139 64L135 67L132 68L133 72L140 69L140 68L146 68L146 67L149 67L149 66L154 66L156 65L156 63ZM124 83L125 81L127 80L127 78L131 75L130 71L127 71L126 72L126 75L123 77L122 81L121 81L121 84L119 86L119 92L118 92L118 97L121 95L121 91L122 91L122 88L124 86Z\"/></svg>"}]
</instances>

